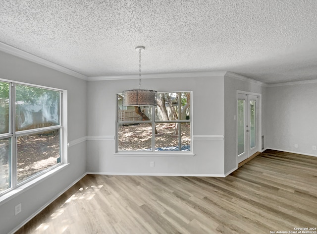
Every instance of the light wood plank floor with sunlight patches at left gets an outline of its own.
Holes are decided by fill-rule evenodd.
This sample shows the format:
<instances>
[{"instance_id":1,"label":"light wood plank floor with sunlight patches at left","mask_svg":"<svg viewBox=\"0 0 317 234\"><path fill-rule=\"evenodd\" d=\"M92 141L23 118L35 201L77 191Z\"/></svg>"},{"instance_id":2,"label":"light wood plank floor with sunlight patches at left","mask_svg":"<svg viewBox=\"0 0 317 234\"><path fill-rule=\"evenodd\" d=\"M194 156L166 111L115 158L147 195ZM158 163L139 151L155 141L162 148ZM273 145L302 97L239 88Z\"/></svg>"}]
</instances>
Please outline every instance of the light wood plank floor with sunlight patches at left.
<instances>
[{"instance_id":1,"label":"light wood plank floor with sunlight patches at left","mask_svg":"<svg viewBox=\"0 0 317 234\"><path fill-rule=\"evenodd\" d=\"M226 178L87 175L17 234L269 234L317 227L317 157L266 150Z\"/></svg>"}]
</instances>

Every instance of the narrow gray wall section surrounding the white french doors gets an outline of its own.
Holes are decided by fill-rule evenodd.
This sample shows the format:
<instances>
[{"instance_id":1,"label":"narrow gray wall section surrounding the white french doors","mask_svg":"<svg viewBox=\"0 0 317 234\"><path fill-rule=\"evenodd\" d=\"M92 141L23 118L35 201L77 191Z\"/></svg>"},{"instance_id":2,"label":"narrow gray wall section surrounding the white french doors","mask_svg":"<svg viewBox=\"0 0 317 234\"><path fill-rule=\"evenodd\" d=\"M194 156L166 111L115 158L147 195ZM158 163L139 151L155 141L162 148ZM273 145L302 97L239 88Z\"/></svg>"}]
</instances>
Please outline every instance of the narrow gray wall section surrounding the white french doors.
<instances>
[{"instance_id":1,"label":"narrow gray wall section surrounding the white french doors","mask_svg":"<svg viewBox=\"0 0 317 234\"><path fill-rule=\"evenodd\" d=\"M238 77L240 79L234 78ZM237 115L237 90L258 93L261 95L262 110L264 109L265 87L253 80L239 77L235 74L226 74L224 77L224 172L225 174L237 168L237 122L234 116ZM263 116L263 111L262 111ZM262 117L263 119L263 117ZM262 121L262 128L264 122ZM262 132L262 135L264 132Z\"/></svg>"}]
</instances>

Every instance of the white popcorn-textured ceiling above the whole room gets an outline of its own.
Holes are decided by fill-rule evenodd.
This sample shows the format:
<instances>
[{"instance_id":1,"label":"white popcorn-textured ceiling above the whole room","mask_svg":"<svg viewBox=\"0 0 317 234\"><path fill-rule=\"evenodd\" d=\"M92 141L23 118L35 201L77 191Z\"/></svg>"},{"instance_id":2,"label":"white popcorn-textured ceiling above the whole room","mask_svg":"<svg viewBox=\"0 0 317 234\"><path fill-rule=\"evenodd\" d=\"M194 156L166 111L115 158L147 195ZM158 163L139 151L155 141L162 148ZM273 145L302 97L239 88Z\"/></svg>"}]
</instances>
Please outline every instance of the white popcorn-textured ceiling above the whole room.
<instances>
[{"instance_id":1,"label":"white popcorn-textured ceiling above the whole room","mask_svg":"<svg viewBox=\"0 0 317 234\"><path fill-rule=\"evenodd\" d=\"M1 0L0 42L86 76L317 79L316 0Z\"/></svg>"}]
</instances>

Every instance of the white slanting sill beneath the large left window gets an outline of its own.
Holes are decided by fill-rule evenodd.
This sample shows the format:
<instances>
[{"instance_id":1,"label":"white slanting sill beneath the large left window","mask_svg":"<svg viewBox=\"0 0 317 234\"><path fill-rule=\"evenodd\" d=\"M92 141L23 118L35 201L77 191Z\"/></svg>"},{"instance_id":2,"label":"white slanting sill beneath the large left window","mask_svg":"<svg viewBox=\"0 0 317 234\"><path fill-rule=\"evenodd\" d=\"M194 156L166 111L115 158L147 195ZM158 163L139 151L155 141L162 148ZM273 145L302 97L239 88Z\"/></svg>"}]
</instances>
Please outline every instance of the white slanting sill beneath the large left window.
<instances>
[{"instance_id":1,"label":"white slanting sill beneath the large left window","mask_svg":"<svg viewBox=\"0 0 317 234\"><path fill-rule=\"evenodd\" d=\"M25 192L27 190L29 190L30 188L34 187L35 185L37 185L38 183L46 180L47 178L55 175L56 173L58 173L59 171L63 170L64 168L66 168L69 165L69 163L67 164L62 164L50 171L48 171L47 173L35 177L34 179L32 179L29 182L26 182L24 184L22 184L21 186L18 186L16 188L14 188L13 190L4 193L3 195L0 195L0 206L6 202L8 202L9 200L13 199L14 197L18 196L19 194L21 194L22 192Z\"/></svg>"}]
</instances>

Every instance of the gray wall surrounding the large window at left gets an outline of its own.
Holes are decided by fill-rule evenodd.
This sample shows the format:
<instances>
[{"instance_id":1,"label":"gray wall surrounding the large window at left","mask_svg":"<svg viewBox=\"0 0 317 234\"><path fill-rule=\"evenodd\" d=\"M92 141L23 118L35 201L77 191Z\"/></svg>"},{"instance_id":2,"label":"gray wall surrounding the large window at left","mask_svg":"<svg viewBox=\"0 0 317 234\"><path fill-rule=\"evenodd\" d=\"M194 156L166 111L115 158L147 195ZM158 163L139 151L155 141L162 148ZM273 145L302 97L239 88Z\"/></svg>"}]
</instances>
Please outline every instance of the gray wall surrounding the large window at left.
<instances>
[{"instance_id":1,"label":"gray wall surrounding the large window at left","mask_svg":"<svg viewBox=\"0 0 317 234\"><path fill-rule=\"evenodd\" d=\"M87 82L0 52L0 78L68 91L68 141L87 135ZM0 233L14 230L86 172L86 142L68 149L70 165L0 205ZM22 203L22 212L14 207Z\"/></svg>"}]
</instances>

